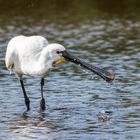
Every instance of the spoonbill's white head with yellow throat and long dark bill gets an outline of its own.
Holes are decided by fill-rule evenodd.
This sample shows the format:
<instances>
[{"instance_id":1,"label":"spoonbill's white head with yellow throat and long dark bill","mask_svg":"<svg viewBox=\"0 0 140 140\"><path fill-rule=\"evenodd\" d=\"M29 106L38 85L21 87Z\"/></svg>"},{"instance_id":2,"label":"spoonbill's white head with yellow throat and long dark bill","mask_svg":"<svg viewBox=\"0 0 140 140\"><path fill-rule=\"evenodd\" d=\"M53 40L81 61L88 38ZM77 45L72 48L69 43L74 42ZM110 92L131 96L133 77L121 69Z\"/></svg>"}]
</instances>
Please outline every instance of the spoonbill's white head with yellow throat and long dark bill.
<instances>
[{"instance_id":1,"label":"spoonbill's white head with yellow throat and long dark bill","mask_svg":"<svg viewBox=\"0 0 140 140\"><path fill-rule=\"evenodd\" d=\"M64 46L60 44L50 44L50 57L52 59L52 65L57 66L61 63L64 63L66 61L70 61L72 63L75 63L76 65L79 65L81 67L84 67L85 69L88 69L98 76L100 76L102 79L104 79L107 82L111 82L115 79L115 75L107 72L104 69L98 68L94 65L91 65L78 57L72 55L69 53Z\"/></svg>"}]
</instances>

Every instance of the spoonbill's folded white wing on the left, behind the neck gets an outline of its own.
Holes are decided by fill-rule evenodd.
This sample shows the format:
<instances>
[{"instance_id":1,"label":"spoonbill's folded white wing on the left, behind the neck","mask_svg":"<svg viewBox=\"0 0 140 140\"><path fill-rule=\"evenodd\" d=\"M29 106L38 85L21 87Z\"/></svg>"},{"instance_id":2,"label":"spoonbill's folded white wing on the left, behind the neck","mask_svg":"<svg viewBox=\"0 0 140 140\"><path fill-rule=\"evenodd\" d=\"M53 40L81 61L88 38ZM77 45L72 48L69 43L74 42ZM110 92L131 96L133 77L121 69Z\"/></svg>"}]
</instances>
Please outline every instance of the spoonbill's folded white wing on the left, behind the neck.
<instances>
[{"instance_id":1,"label":"spoonbill's folded white wing on the left, behind the neck","mask_svg":"<svg viewBox=\"0 0 140 140\"><path fill-rule=\"evenodd\" d=\"M6 51L7 68L14 65L20 68L22 63L28 65L36 62L48 41L42 36L16 36L8 43Z\"/></svg>"}]
</instances>

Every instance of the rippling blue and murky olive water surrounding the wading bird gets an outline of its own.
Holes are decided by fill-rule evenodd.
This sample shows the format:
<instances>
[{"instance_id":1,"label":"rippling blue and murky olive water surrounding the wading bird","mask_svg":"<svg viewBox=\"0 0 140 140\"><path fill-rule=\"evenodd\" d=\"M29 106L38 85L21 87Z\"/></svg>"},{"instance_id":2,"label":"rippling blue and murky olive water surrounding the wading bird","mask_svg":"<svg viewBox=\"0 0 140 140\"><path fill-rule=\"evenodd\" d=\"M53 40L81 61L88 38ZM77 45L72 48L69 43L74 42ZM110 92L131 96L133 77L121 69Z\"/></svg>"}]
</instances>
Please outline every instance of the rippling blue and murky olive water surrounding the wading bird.
<instances>
[{"instance_id":1,"label":"rippling blue and murky olive water surrounding the wading bird","mask_svg":"<svg viewBox=\"0 0 140 140\"><path fill-rule=\"evenodd\" d=\"M0 138L38 140L138 140L140 137L139 1L0 2ZM42 35L116 74L113 84L71 63L46 78L47 109L39 112L38 78L25 77L31 111L5 68L8 41ZM110 120L98 115L112 111Z\"/></svg>"}]
</instances>

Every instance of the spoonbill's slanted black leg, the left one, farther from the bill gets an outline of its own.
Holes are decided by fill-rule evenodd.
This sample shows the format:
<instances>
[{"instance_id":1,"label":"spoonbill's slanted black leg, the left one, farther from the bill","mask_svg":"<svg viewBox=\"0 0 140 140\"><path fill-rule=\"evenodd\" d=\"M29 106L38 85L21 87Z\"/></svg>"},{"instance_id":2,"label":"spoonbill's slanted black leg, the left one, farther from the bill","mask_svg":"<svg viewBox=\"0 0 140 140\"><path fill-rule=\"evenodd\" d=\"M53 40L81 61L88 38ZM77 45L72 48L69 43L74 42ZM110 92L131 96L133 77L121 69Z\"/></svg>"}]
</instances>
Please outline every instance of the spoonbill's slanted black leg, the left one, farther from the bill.
<instances>
[{"instance_id":1,"label":"spoonbill's slanted black leg, the left one, farther from the bill","mask_svg":"<svg viewBox=\"0 0 140 140\"><path fill-rule=\"evenodd\" d=\"M26 91L25 91L24 84L23 84L22 80L20 80L20 84L21 84L21 87L22 87L22 90L23 90L23 95L24 95L27 111L29 111L30 110L30 100L29 100L29 97L26 94Z\"/></svg>"}]
</instances>

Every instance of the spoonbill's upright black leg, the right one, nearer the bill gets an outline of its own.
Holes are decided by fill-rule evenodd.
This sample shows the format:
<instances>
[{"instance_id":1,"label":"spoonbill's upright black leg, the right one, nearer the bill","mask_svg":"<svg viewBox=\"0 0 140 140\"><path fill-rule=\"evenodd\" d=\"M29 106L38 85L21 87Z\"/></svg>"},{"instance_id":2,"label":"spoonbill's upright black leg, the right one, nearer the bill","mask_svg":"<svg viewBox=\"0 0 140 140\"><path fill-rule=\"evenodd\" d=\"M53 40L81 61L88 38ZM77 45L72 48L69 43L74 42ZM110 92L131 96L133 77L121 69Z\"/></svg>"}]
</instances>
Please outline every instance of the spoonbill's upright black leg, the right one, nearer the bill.
<instances>
[{"instance_id":1,"label":"spoonbill's upright black leg, the right one, nearer the bill","mask_svg":"<svg viewBox=\"0 0 140 140\"><path fill-rule=\"evenodd\" d=\"M44 78L41 78L41 101L40 101L40 110L44 111L45 110L45 99L43 97L43 86L44 86Z\"/></svg>"}]
</instances>

